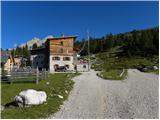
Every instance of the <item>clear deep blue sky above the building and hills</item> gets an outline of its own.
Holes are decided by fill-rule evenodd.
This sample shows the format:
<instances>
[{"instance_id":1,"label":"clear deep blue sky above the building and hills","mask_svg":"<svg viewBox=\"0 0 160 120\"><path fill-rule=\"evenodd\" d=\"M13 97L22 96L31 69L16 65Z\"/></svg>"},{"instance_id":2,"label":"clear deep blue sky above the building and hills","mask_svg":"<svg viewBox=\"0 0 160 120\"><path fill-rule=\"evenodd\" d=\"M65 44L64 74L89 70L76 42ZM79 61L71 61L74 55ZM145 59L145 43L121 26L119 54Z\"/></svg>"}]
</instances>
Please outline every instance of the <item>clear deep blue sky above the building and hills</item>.
<instances>
[{"instance_id":1,"label":"clear deep blue sky above the building and hills","mask_svg":"<svg viewBox=\"0 0 160 120\"><path fill-rule=\"evenodd\" d=\"M159 25L158 2L2 2L2 48L13 48L33 37L92 37Z\"/></svg>"}]
</instances>

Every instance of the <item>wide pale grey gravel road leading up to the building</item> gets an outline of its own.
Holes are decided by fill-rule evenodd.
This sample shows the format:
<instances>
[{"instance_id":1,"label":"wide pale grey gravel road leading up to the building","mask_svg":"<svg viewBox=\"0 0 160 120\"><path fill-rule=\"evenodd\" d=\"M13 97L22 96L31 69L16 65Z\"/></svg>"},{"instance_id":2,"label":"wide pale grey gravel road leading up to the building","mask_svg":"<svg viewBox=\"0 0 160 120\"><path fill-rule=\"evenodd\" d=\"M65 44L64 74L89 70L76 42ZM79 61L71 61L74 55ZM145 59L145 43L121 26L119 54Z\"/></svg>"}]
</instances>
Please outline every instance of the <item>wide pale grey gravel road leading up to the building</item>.
<instances>
[{"instance_id":1,"label":"wide pale grey gravel road leading up to the building","mask_svg":"<svg viewBox=\"0 0 160 120\"><path fill-rule=\"evenodd\" d=\"M49 118L158 119L158 75L130 69L126 80L111 81L97 77L92 70L73 80L69 99Z\"/></svg>"}]
</instances>

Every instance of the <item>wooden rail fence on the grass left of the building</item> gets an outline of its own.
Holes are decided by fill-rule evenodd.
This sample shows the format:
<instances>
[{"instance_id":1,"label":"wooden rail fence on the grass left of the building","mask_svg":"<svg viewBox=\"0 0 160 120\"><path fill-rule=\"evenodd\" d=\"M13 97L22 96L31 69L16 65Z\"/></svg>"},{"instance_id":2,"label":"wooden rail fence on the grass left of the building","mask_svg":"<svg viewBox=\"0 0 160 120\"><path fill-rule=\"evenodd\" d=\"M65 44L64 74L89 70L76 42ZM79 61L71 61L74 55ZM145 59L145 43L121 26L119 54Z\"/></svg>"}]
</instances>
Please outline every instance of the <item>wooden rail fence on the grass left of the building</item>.
<instances>
[{"instance_id":1,"label":"wooden rail fence on the grass left of the building","mask_svg":"<svg viewBox=\"0 0 160 120\"><path fill-rule=\"evenodd\" d=\"M10 74L1 75L1 82L14 83L14 82L35 82L39 83L40 80L48 78L48 71L43 69L32 70L31 72L11 72Z\"/></svg>"}]
</instances>

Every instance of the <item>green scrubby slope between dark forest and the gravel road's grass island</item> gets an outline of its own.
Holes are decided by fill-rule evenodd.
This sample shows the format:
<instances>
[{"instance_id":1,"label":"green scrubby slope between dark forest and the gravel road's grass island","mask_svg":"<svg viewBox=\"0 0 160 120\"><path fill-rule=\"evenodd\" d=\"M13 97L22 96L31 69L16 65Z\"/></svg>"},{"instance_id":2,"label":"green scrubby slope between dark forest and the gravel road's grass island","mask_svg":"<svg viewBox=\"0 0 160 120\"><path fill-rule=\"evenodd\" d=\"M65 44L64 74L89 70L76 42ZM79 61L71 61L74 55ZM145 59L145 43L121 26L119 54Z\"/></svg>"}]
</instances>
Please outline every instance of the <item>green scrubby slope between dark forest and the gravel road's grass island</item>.
<instances>
[{"instance_id":1,"label":"green scrubby slope between dark forest and the gravel road's grass island","mask_svg":"<svg viewBox=\"0 0 160 120\"><path fill-rule=\"evenodd\" d=\"M139 69L139 67L153 67L159 65L158 56L150 57L141 57L141 56L132 56L132 57L120 57L120 56L111 56L107 53L100 53L97 57L103 61L101 66L108 71L110 69Z\"/></svg>"}]
</instances>

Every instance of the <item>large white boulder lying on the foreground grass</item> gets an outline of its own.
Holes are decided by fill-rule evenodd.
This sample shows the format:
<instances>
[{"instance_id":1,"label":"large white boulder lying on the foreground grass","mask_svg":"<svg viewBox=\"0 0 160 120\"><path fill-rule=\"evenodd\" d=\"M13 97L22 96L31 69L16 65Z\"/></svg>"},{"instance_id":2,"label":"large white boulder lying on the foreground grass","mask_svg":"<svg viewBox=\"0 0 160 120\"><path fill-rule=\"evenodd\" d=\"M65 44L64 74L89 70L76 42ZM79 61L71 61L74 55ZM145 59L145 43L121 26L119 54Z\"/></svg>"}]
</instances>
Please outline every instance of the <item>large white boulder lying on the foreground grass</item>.
<instances>
[{"instance_id":1,"label":"large white boulder lying on the foreground grass","mask_svg":"<svg viewBox=\"0 0 160 120\"><path fill-rule=\"evenodd\" d=\"M33 89L28 89L20 92L14 97L14 102L18 104L19 107L39 105L46 102L47 94L44 91L36 91Z\"/></svg>"}]
</instances>

